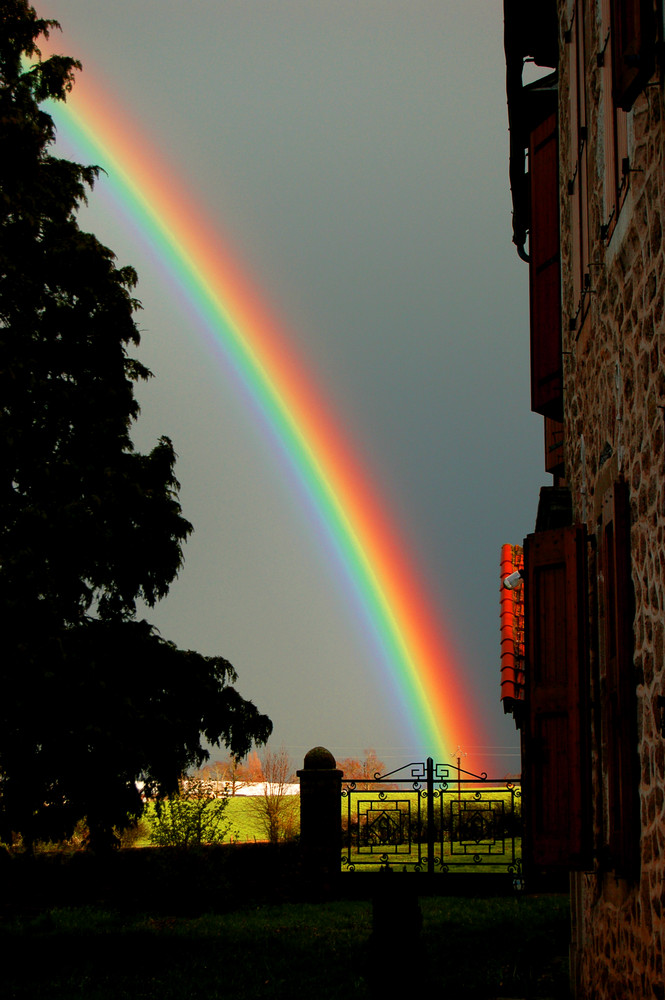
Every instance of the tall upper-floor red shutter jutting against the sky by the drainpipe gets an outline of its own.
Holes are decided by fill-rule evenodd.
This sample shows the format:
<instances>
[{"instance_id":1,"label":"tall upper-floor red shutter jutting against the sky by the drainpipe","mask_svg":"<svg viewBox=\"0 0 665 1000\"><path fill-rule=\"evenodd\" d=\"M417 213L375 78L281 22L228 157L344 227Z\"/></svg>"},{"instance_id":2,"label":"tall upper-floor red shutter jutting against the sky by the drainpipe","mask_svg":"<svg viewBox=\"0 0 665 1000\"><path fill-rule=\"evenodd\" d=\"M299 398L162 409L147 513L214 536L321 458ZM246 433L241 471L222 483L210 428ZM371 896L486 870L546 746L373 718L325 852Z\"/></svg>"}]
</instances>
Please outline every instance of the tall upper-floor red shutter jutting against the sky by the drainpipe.
<instances>
[{"instance_id":1,"label":"tall upper-floor red shutter jutting against the sky by the drainpipe","mask_svg":"<svg viewBox=\"0 0 665 1000\"><path fill-rule=\"evenodd\" d=\"M531 133L531 409L562 419L559 152L556 115Z\"/></svg>"}]
</instances>

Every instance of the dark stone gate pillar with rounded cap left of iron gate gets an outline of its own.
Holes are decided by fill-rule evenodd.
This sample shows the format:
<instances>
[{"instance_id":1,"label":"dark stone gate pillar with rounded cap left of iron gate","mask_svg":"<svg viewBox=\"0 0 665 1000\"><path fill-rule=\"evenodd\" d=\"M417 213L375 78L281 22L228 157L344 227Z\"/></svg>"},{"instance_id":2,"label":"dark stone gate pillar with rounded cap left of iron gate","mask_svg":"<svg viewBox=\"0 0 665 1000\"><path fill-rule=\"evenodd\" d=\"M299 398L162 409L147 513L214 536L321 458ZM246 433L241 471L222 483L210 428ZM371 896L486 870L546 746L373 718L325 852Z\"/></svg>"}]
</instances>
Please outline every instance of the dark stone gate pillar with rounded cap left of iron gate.
<instances>
[{"instance_id":1,"label":"dark stone gate pillar with rounded cap left of iron gate","mask_svg":"<svg viewBox=\"0 0 665 1000\"><path fill-rule=\"evenodd\" d=\"M305 755L300 779L300 843L306 876L321 886L340 871L342 771L325 747Z\"/></svg>"}]
</instances>

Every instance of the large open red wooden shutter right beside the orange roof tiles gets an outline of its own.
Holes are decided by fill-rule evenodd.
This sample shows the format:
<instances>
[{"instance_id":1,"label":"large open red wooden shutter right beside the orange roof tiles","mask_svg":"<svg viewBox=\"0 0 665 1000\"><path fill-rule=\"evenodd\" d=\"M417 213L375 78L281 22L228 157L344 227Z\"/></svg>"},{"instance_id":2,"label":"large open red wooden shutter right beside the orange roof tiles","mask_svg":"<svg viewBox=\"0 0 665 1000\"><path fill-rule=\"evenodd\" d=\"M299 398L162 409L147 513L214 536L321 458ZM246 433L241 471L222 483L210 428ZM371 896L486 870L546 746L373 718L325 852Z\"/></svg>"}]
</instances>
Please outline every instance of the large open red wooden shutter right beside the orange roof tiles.
<instances>
[{"instance_id":1,"label":"large open red wooden shutter right beside the orange roof tiles","mask_svg":"<svg viewBox=\"0 0 665 1000\"><path fill-rule=\"evenodd\" d=\"M525 542L525 863L588 864L586 534L582 527Z\"/></svg>"}]
</instances>

